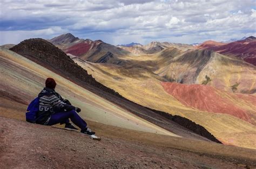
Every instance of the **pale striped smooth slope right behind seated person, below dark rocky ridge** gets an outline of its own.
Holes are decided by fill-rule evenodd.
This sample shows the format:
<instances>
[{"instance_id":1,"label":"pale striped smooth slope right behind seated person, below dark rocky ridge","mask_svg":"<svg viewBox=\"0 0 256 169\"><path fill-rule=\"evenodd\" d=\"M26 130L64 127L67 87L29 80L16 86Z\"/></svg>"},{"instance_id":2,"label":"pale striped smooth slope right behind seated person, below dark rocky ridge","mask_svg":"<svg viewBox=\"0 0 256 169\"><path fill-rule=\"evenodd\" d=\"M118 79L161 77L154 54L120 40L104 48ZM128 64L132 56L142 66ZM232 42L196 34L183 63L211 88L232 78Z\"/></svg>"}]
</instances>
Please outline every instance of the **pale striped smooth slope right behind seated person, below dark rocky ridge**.
<instances>
[{"instance_id":1,"label":"pale striped smooth slope right behind seated person, below dark rocky ridge","mask_svg":"<svg viewBox=\"0 0 256 169\"><path fill-rule=\"evenodd\" d=\"M0 92L7 93L8 97L14 97L28 104L42 90L45 78L53 77L57 82L57 92L62 94L64 98L68 98L75 106L80 107L82 109L80 115L85 119L126 129L176 136L169 131L133 116L133 114L122 108L107 102L107 100L31 60L17 55L15 52L0 48L0 59Z\"/></svg>"}]
</instances>

